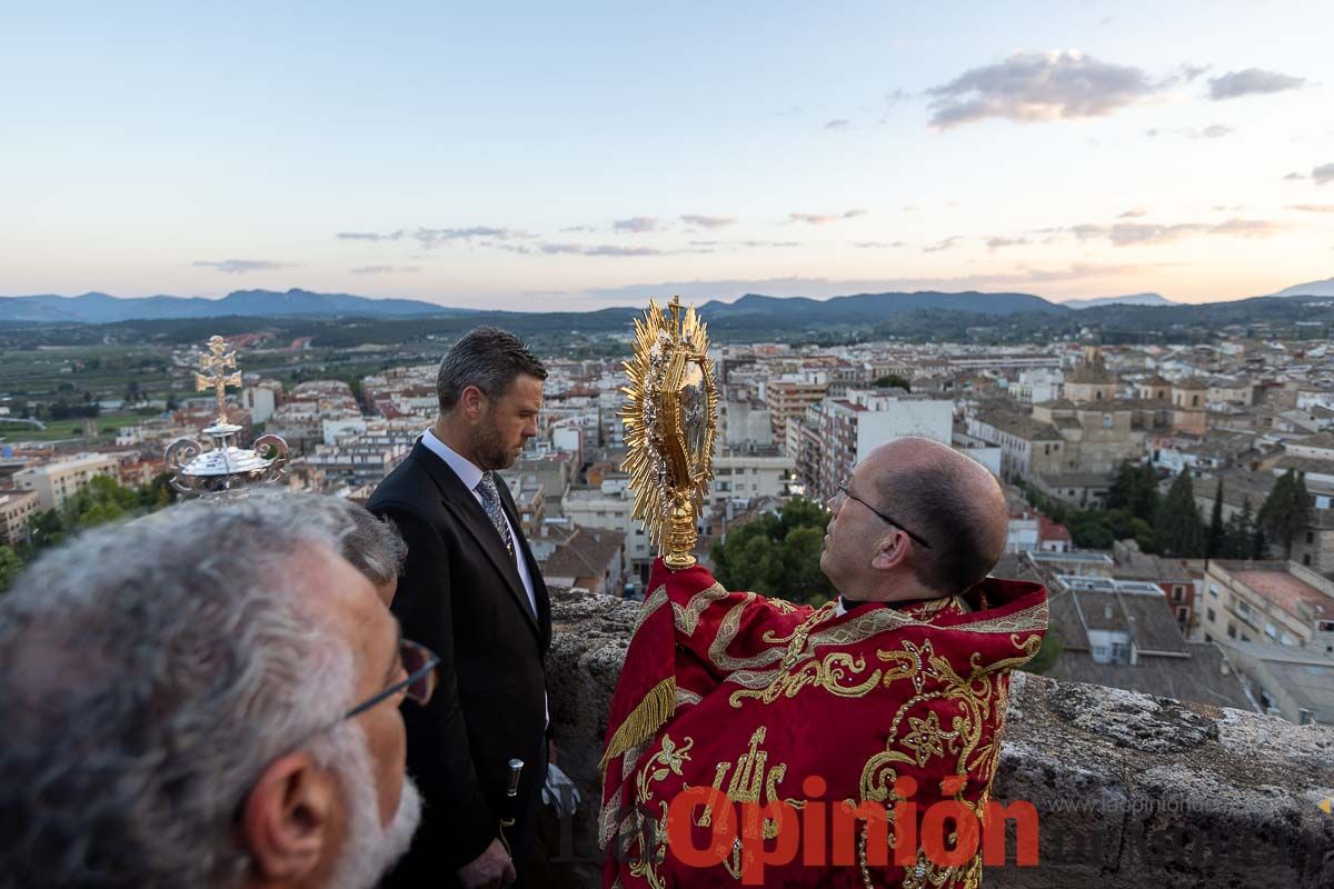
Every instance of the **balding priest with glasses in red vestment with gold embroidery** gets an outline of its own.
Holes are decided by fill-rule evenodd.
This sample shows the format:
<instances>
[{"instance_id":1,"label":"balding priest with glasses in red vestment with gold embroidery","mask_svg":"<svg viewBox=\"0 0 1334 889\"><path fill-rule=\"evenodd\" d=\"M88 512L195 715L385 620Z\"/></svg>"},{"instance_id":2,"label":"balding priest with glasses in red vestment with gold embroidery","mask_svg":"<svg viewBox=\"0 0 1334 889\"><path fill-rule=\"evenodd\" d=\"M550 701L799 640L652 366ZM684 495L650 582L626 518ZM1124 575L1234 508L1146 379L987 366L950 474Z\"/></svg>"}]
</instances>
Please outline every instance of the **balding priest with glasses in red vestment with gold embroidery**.
<instances>
[{"instance_id":1,"label":"balding priest with glasses in red vestment with gold embroidery","mask_svg":"<svg viewBox=\"0 0 1334 889\"><path fill-rule=\"evenodd\" d=\"M975 889L1003 857L1009 677L1047 602L987 577L1000 488L899 439L839 490L822 608L654 565L607 728L604 886Z\"/></svg>"}]
</instances>

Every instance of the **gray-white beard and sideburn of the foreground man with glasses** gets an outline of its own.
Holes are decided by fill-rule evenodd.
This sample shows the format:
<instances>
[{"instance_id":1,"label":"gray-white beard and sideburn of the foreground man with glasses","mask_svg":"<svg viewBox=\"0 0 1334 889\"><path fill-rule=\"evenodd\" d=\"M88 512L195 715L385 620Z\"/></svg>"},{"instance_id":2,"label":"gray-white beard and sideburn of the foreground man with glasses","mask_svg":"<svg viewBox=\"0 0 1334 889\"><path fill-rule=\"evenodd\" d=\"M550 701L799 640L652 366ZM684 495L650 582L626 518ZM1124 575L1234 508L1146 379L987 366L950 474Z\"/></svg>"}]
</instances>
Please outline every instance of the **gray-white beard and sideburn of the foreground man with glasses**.
<instances>
[{"instance_id":1,"label":"gray-white beard and sideburn of the foreground man with glasses","mask_svg":"<svg viewBox=\"0 0 1334 889\"><path fill-rule=\"evenodd\" d=\"M325 889L372 889L412 844L422 821L422 794L403 777L399 808L388 826L380 825L379 792L366 733L344 722L331 738L336 758L329 762L343 781L348 806L347 838Z\"/></svg>"}]
</instances>

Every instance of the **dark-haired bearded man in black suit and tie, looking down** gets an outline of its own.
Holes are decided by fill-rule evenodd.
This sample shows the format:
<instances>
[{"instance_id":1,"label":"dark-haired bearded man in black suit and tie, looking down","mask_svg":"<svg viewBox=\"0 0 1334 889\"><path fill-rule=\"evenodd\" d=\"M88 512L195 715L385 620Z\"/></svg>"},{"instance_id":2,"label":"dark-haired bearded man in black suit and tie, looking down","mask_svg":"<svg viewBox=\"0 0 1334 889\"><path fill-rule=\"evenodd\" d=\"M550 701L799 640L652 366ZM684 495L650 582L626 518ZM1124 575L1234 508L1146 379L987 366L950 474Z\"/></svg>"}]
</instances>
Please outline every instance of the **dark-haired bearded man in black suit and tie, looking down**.
<instances>
[{"instance_id":1,"label":"dark-haired bearded man in black suit and tie, looking down","mask_svg":"<svg viewBox=\"0 0 1334 889\"><path fill-rule=\"evenodd\" d=\"M538 435L546 377L514 335L470 332L440 363L439 419L367 504L408 545L394 598L403 634L440 656L430 705L403 710L426 810L384 886L499 886L528 866L547 765L551 606L495 470ZM506 794L511 760L523 760L516 797Z\"/></svg>"}]
</instances>

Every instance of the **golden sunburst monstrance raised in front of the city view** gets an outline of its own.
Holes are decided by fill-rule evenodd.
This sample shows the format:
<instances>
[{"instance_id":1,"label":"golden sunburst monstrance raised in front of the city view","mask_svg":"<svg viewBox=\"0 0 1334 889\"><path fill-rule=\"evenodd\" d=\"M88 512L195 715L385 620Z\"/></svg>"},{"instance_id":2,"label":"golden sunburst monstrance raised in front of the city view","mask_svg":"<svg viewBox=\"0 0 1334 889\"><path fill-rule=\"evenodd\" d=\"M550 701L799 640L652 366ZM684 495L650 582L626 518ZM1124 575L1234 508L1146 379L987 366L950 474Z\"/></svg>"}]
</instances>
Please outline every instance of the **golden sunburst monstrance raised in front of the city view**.
<instances>
[{"instance_id":1,"label":"golden sunburst monstrance raised in front of the city view","mask_svg":"<svg viewBox=\"0 0 1334 889\"><path fill-rule=\"evenodd\" d=\"M682 317L680 297L667 312L652 300L635 319L635 355L623 387L628 454L622 469L635 492L634 517L643 521L663 564L695 564L696 525L714 478L718 385L708 360L708 333L694 307Z\"/></svg>"}]
</instances>

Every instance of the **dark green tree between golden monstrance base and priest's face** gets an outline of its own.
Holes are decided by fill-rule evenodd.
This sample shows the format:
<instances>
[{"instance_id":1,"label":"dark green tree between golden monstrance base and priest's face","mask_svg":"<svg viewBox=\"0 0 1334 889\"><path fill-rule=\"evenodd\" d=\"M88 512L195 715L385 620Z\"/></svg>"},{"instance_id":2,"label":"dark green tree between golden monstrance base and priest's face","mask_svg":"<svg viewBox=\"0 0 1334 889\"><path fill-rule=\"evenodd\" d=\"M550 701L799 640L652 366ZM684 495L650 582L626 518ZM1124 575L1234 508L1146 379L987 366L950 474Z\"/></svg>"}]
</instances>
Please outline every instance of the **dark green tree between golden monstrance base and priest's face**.
<instances>
[{"instance_id":1,"label":"dark green tree between golden monstrance base and priest's face","mask_svg":"<svg viewBox=\"0 0 1334 889\"><path fill-rule=\"evenodd\" d=\"M794 498L778 514L734 526L710 552L714 576L728 589L750 589L819 605L835 596L820 570L828 513L812 500Z\"/></svg>"}]
</instances>

